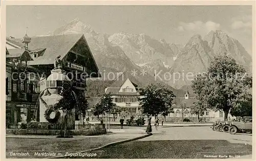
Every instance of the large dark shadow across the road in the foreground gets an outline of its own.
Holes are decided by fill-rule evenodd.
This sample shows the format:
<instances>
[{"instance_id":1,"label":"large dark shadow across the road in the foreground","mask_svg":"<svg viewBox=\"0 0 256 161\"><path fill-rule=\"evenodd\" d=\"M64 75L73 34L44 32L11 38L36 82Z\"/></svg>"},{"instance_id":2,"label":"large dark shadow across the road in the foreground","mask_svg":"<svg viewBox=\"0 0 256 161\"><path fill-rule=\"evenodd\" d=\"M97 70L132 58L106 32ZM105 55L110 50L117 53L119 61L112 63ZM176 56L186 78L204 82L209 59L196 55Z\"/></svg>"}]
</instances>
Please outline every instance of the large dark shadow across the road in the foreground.
<instances>
[{"instance_id":1,"label":"large dark shadow across the road in the foreground","mask_svg":"<svg viewBox=\"0 0 256 161\"><path fill-rule=\"evenodd\" d=\"M252 146L226 140L132 141L98 152L95 158L230 158L252 154Z\"/></svg>"}]
</instances>

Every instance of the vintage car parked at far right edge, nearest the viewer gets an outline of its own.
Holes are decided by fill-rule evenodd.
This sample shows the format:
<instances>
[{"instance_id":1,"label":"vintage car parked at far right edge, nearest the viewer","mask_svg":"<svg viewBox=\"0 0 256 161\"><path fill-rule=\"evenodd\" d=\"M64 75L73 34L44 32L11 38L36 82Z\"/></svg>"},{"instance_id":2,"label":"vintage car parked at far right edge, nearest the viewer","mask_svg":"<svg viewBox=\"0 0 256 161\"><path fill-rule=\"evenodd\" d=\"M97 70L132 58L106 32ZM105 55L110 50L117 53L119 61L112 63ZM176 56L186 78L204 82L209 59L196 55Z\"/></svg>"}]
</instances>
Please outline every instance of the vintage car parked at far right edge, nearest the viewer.
<instances>
[{"instance_id":1,"label":"vintage car parked at far right edge, nearest the viewer","mask_svg":"<svg viewBox=\"0 0 256 161\"><path fill-rule=\"evenodd\" d=\"M229 126L229 133L234 135L237 132L252 132L252 117L244 117L242 122L232 122Z\"/></svg>"}]
</instances>

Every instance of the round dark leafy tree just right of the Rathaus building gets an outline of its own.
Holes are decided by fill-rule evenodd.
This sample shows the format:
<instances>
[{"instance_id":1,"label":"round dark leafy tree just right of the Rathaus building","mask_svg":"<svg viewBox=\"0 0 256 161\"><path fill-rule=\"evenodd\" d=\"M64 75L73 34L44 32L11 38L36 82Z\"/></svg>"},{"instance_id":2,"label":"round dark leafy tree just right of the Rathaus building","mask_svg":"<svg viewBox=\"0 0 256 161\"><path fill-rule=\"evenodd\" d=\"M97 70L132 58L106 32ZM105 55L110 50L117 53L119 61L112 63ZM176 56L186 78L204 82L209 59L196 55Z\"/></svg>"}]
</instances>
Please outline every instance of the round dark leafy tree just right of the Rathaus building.
<instances>
[{"instance_id":1,"label":"round dark leafy tree just right of the Rathaus building","mask_svg":"<svg viewBox=\"0 0 256 161\"><path fill-rule=\"evenodd\" d=\"M170 110L175 97L173 91L164 88L161 84L149 84L141 89L140 94L143 95L139 98L143 113L154 116Z\"/></svg>"}]
</instances>

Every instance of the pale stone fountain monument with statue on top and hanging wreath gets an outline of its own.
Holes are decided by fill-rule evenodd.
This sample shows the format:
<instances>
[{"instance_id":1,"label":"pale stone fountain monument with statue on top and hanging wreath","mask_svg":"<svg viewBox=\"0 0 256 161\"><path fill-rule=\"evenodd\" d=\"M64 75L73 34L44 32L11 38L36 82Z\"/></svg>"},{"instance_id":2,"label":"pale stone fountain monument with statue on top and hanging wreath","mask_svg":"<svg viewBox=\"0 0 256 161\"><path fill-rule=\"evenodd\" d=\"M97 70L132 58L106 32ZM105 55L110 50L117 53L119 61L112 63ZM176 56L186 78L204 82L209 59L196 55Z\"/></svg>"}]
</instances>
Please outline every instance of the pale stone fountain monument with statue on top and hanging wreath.
<instances>
[{"instance_id":1,"label":"pale stone fountain monument with statue on top and hanging wreath","mask_svg":"<svg viewBox=\"0 0 256 161\"><path fill-rule=\"evenodd\" d=\"M65 85L71 87L71 80L62 70L61 61L58 56L54 63L54 69L51 70L45 81L42 95L40 96L40 110L39 120L40 122L49 122L52 124L64 124L65 116L67 117L67 126L75 125L75 103L70 106L69 110L63 110L63 105L59 104L63 102L63 92L65 91ZM71 97L75 97L75 93L72 91L69 93ZM74 98L75 99L75 98Z\"/></svg>"}]
</instances>

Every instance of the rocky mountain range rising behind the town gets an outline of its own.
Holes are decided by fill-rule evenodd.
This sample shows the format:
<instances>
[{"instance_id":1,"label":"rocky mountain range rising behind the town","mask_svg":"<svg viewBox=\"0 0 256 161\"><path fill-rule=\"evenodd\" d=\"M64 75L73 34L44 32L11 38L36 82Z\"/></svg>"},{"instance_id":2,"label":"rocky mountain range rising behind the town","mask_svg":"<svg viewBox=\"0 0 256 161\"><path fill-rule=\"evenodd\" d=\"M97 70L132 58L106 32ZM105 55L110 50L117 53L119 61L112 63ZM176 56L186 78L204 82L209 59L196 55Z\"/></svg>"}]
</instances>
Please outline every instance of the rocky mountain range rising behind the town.
<instances>
[{"instance_id":1,"label":"rocky mountain range rising behind the town","mask_svg":"<svg viewBox=\"0 0 256 161\"><path fill-rule=\"evenodd\" d=\"M190 81L155 79L154 75L175 72L203 72L212 59L220 53L227 55L252 70L252 58L241 43L221 30L210 31L204 38L194 35L185 45L169 44L164 39L154 39L145 34L97 33L89 24L78 18L60 26L46 35L84 34L99 70L106 72L138 71L135 76L142 84L160 82L170 85L177 93L184 92ZM141 74L140 71L146 71ZM190 88L185 88L190 89Z\"/></svg>"}]
</instances>

